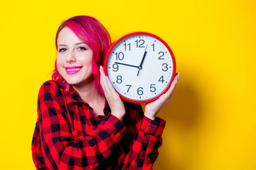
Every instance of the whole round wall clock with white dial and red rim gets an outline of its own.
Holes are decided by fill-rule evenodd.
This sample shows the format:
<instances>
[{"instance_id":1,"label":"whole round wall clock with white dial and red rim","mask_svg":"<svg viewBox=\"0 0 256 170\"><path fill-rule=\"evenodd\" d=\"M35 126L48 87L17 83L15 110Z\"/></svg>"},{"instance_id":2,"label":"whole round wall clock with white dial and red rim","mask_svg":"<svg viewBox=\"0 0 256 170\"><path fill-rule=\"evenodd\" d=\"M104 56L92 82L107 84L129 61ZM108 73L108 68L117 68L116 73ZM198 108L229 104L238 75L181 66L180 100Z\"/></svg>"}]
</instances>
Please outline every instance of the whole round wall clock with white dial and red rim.
<instances>
[{"instance_id":1,"label":"whole round wall clock with white dial and red rim","mask_svg":"<svg viewBox=\"0 0 256 170\"><path fill-rule=\"evenodd\" d=\"M151 102L170 87L176 72L169 46L154 34L135 32L111 45L105 62L116 92L130 102Z\"/></svg>"}]
</instances>

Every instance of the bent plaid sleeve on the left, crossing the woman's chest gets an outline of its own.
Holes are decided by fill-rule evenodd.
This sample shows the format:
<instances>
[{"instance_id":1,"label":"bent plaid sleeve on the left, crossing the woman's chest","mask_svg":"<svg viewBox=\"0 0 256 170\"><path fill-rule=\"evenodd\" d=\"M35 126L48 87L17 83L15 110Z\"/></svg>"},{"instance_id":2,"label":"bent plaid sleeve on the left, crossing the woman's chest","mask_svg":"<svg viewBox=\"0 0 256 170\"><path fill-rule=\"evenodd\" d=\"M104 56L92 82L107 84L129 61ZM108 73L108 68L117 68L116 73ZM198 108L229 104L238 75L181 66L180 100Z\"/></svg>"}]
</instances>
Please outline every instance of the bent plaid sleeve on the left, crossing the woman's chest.
<instances>
[{"instance_id":1,"label":"bent plaid sleeve on the left, crossing the woman's chest","mask_svg":"<svg viewBox=\"0 0 256 170\"><path fill-rule=\"evenodd\" d=\"M55 89L41 86L38 95L38 125L45 166L50 170L91 170L105 161L114 144L125 135L125 125L108 115L96 129L73 139Z\"/></svg>"}]
</instances>

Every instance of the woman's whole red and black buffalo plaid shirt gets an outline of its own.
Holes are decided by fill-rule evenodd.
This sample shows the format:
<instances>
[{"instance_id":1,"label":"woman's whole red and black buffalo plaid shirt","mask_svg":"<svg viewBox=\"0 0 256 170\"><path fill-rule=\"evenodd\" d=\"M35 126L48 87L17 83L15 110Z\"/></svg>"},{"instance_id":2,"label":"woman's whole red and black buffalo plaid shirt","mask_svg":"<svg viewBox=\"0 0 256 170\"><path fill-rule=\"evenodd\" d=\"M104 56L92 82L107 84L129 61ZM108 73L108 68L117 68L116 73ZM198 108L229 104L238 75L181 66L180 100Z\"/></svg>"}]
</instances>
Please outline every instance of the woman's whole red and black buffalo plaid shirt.
<instances>
[{"instance_id":1,"label":"woman's whole red and black buffalo plaid shirt","mask_svg":"<svg viewBox=\"0 0 256 170\"><path fill-rule=\"evenodd\" d=\"M106 100L105 100L106 101ZM162 145L163 119L148 119L140 104L123 101L122 121L93 108L75 89L64 91L54 80L38 94L38 120L32 158L38 170L151 170Z\"/></svg>"}]
</instances>

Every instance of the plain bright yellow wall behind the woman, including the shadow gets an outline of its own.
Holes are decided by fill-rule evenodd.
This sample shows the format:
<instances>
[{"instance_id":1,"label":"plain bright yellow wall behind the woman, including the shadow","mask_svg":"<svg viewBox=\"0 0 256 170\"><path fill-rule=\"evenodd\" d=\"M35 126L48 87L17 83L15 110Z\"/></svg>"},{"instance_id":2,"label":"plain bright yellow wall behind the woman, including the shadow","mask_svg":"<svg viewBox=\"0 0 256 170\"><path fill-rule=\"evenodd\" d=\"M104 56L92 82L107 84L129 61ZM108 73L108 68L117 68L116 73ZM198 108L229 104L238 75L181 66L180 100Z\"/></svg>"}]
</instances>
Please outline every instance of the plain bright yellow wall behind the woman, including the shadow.
<instances>
[{"instance_id":1,"label":"plain bright yellow wall behind the woman, including the shadow","mask_svg":"<svg viewBox=\"0 0 256 170\"><path fill-rule=\"evenodd\" d=\"M0 169L35 170L37 95L50 79L55 33L74 15L96 17L112 40L163 38L177 83L155 170L256 170L254 0L9 0L0 3Z\"/></svg>"}]
</instances>

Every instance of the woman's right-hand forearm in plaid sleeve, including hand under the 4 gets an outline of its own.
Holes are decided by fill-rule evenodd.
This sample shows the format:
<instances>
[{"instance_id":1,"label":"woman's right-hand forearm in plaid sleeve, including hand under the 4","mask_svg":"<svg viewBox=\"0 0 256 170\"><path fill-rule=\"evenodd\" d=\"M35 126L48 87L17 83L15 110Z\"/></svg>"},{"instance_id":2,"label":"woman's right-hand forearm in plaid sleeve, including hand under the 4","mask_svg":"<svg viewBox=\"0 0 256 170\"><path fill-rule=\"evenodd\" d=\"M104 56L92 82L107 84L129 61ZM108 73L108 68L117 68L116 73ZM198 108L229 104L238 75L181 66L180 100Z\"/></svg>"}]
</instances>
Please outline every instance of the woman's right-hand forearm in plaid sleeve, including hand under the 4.
<instances>
[{"instance_id":1,"label":"woman's right-hand forearm in plaid sleeve, including hand under the 4","mask_svg":"<svg viewBox=\"0 0 256 170\"><path fill-rule=\"evenodd\" d=\"M147 103L145 106L145 113L141 105L137 105L135 115L135 122L138 133L135 134L133 140L132 152L129 155L130 170L151 170L154 162L157 159L158 148L162 145L162 133L166 122L163 119L156 117L157 113L166 104L171 102L174 94L179 73L175 75L169 90L160 96L154 102Z\"/></svg>"}]
</instances>

